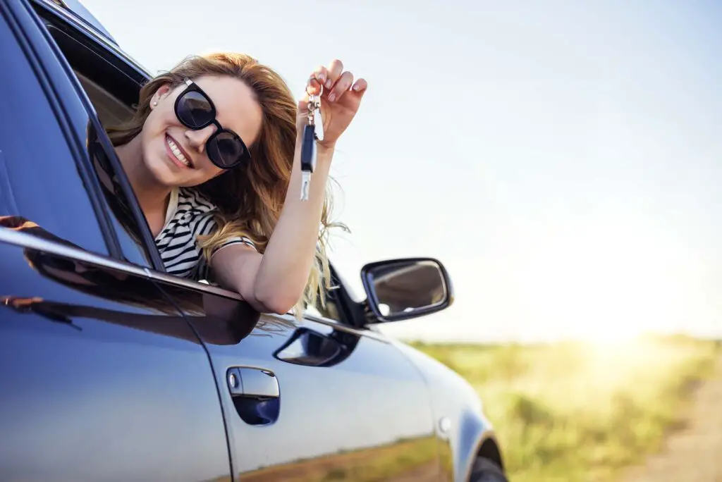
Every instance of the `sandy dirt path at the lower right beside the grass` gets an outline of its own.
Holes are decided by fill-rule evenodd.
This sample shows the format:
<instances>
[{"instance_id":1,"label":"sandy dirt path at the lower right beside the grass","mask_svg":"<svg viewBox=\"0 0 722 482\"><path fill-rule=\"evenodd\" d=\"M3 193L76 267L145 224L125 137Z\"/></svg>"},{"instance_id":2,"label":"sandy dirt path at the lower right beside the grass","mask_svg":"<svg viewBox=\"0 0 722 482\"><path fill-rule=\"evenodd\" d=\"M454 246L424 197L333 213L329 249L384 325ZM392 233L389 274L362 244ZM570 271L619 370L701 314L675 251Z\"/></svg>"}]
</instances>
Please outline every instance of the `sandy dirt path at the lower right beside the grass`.
<instances>
[{"instance_id":1,"label":"sandy dirt path at the lower right beside the grass","mask_svg":"<svg viewBox=\"0 0 722 482\"><path fill-rule=\"evenodd\" d=\"M722 482L722 358L716 377L695 393L685 428L663 450L633 467L623 482Z\"/></svg>"}]
</instances>

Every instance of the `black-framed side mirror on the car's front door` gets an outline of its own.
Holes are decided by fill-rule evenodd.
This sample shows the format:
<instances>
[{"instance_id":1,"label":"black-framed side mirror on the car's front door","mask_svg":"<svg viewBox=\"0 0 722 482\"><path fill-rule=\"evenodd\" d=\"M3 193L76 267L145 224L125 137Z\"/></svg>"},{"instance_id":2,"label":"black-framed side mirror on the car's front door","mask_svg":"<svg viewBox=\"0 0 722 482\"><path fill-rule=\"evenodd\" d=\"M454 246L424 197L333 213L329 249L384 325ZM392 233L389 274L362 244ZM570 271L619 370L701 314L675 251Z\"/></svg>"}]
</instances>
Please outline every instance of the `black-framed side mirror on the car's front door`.
<instances>
[{"instance_id":1,"label":"black-framed side mirror on the car's front door","mask_svg":"<svg viewBox=\"0 0 722 482\"><path fill-rule=\"evenodd\" d=\"M361 268L361 281L369 307L381 323L429 315L453 302L448 273L432 258L369 263Z\"/></svg>"}]
</instances>

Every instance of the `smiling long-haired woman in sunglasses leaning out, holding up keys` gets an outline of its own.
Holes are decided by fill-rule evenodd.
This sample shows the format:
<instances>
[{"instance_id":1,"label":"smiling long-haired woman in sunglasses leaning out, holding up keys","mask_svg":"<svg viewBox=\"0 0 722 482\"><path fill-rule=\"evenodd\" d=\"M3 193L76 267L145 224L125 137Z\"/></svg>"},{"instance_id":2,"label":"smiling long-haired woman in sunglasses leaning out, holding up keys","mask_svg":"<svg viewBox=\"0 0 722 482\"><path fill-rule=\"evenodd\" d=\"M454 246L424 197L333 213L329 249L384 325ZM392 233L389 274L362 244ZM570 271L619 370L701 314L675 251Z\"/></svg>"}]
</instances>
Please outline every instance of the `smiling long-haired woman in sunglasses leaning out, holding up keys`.
<instances>
[{"instance_id":1,"label":"smiling long-haired woman in sunglasses leaning out, holding up keys","mask_svg":"<svg viewBox=\"0 0 722 482\"><path fill-rule=\"evenodd\" d=\"M187 58L144 85L134 118L108 133L167 271L211 279L260 312L298 316L323 299L326 181L366 89L336 60L296 102L276 72L232 53ZM308 94L321 92L324 136L301 201Z\"/></svg>"}]
</instances>

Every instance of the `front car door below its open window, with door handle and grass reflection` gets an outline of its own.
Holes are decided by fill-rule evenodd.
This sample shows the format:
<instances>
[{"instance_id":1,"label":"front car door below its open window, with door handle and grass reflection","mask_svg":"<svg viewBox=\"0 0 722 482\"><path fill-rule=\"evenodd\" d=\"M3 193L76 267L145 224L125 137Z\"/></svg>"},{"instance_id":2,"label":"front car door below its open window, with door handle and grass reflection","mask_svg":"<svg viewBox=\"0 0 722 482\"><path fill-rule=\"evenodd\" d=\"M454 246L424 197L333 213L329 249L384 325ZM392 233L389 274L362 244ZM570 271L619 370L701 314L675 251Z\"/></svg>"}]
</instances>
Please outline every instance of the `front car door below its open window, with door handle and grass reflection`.
<instances>
[{"instance_id":1,"label":"front car door below its open window, with door handle and grass reflection","mask_svg":"<svg viewBox=\"0 0 722 482\"><path fill-rule=\"evenodd\" d=\"M440 480L422 378L384 336L157 274L212 359L241 481ZM202 307L198 309L198 307Z\"/></svg>"}]
</instances>

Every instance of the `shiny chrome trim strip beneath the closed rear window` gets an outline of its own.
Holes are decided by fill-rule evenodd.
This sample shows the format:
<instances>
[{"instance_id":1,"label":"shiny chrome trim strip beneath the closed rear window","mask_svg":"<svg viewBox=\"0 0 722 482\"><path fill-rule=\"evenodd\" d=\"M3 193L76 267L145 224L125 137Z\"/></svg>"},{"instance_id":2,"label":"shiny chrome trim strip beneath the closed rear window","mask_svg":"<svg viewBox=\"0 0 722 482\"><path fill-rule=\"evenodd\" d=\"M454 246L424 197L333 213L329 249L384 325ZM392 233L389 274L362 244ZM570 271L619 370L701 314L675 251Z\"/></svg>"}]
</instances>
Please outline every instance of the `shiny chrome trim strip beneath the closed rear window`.
<instances>
[{"instance_id":1,"label":"shiny chrome trim strip beneath the closed rear window","mask_svg":"<svg viewBox=\"0 0 722 482\"><path fill-rule=\"evenodd\" d=\"M84 263L91 263L97 266L103 266L104 268L114 269L116 271L124 271L135 276L142 276L147 278L143 268L136 266L131 263L126 263L121 260L108 258L108 256L91 253L90 251L84 250L80 247L72 247L62 245L59 242L44 240L42 237L37 237L28 234L27 232L13 231L12 229L0 228L0 242L6 242L10 245L17 245L30 250L38 250L43 253L50 253L52 255L58 255L63 258L71 258L74 260L83 261Z\"/></svg>"}]
</instances>

